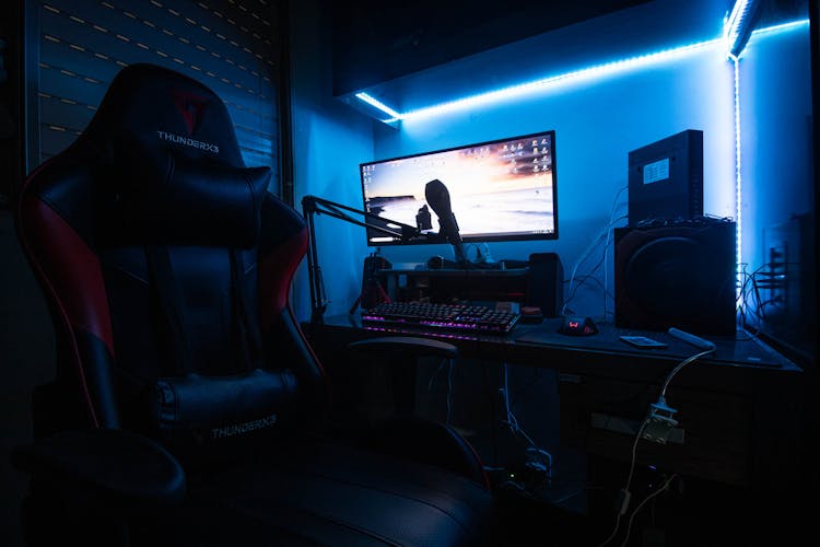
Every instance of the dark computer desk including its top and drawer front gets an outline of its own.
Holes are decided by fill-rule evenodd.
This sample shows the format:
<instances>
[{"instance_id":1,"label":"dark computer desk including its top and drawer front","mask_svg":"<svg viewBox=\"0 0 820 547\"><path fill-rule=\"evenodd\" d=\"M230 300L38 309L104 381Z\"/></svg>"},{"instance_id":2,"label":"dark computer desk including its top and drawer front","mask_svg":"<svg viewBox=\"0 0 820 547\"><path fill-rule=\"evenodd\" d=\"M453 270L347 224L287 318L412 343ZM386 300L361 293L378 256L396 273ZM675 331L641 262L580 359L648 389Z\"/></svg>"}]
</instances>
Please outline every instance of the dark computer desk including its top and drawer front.
<instances>
[{"instance_id":1,"label":"dark computer desk including its top and drawer front","mask_svg":"<svg viewBox=\"0 0 820 547\"><path fill-rule=\"evenodd\" d=\"M669 373L701 350L666 333L599 324L598 334L559 333L561 319L519 324L505 336L472 336L363 328L359 313L328 316L303 330L328 366L350 363L345 346L370 337L427 336L447 340L467 360L557 371L561 445L629 462L636 432ZM644 335L668 344L636 349L619 339ZM673 375L666 403L677 427L666 443L642 440L639 464L727 485L782 490L799 482L803 370L761 340L703 336L716 345Z\"/></svg>"}]
</instances>

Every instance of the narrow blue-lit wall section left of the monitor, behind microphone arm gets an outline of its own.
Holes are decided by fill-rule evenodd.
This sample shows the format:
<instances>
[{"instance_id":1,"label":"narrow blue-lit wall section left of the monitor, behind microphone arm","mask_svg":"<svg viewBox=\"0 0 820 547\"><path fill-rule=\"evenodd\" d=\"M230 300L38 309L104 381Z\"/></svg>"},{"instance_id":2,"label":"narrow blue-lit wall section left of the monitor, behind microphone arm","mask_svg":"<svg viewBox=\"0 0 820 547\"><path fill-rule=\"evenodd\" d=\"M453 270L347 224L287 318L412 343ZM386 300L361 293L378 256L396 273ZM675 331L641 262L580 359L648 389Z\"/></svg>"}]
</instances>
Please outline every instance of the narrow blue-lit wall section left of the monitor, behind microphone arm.
<instances>
[{"instance_id":1,"label":"narrow blue-lit wall section left of the monitor, behind microphone arm","mask_svg":"<svg viewBox=\"0 0 820 547\"><path fill-rule=\"evenodd\" d=\"M373 158L372 120L332 97L328 21L320 13L316 0L291 4L294 202L300 211L308 194L361 207L359 163ZM361 290L367 256L363 229L318 217L316 242L330 300L327 314L347 313ZM300 319L311 316L304 263L294 279L292 302Z\"/></svg>"}]
</instances>

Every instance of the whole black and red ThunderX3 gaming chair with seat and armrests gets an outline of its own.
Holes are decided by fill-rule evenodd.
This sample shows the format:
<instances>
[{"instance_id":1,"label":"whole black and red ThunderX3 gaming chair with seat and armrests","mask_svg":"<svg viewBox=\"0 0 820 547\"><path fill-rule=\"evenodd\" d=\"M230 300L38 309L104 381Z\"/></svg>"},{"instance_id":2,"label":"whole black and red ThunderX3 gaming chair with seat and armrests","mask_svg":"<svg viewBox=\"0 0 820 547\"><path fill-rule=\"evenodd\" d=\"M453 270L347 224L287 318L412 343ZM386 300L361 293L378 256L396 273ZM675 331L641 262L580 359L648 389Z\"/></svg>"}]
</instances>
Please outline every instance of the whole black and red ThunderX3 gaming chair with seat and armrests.
<instances>
[{"instance_id":1,"label":"whole black and red ThunderX3 gaming chair with seat and armrests","mask_svg":"<svg viewBox=\"0 0 820 547\"><path fill-rule=\"evenodd\" d=\"M31 544L492 542L456 432L397 421L382 451L323 426L325 375L288 304L305 223L269 176L212 91L132 65L26 182L17 231L58 354L14 453Z\"/></svg>"}]
</instances>

